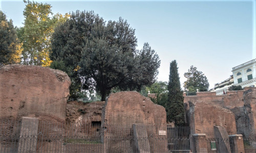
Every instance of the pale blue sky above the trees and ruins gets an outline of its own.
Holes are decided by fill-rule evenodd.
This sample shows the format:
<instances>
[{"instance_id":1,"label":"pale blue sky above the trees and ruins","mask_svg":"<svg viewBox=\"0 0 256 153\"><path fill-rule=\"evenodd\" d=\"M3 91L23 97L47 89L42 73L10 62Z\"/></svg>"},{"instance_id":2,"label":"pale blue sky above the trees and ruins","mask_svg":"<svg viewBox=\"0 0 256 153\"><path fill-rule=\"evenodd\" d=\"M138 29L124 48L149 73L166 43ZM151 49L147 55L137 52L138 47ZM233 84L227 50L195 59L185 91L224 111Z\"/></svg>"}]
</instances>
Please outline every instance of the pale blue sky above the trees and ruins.
<instances>
[{"instance_id":1,"label":"pale blue sky above the trees and ruins","mask_svg":"<svg viewBox=\"0 0 256 153\"><path fill-rule=\"evenodd\" d=\"M213 88L233 67L256 58L255 0L36 2L50 4L54 14L93 10L104 20L126 19L136 29L138 49L148 42L158 53L161 81L168 81L169 63L176 59L181 84L194 65ZM23 1L1 0L0 8L14 26L23 26Z\"/></svg>"}]
</instances>

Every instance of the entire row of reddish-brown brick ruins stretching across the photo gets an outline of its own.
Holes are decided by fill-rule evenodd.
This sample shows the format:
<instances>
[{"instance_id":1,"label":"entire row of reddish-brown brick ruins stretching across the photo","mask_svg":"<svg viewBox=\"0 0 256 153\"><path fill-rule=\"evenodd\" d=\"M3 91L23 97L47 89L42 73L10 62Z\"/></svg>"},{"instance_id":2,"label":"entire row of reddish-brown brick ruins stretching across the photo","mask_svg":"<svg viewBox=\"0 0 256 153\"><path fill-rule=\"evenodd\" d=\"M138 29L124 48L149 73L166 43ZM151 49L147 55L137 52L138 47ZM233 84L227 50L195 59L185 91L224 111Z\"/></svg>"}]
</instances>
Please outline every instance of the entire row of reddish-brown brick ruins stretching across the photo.
<instances>
[{"instance_id":1,"label":"entire row of reddish-brown brick ruins stretching across the photo","mask_svg":"<svg viewBox=\"0 0 256 153\"><path fill-rule=\"evenodd\" d=\"M228 152L244 152L243 138L256 137L256 88L218 96L215 92L184 94L191 137L181 138L187 134L166 127L165 108L137 92L113 93L106 102L67 103L68 75L32 65L0 67L0 86L0 122L4 120L0 124L0 150L168 152L182 149L177 147L182 145L188 147L186 151L207 152L212 149L209 138L217 137L226 139L222 145ZM213 133L214 126L218 132ZM26 139L27 132L32 135L30 139ZM166 136L168 132L174 135ZM13 146L13 142L18 143Z\"/></svg>"}]
</instances>

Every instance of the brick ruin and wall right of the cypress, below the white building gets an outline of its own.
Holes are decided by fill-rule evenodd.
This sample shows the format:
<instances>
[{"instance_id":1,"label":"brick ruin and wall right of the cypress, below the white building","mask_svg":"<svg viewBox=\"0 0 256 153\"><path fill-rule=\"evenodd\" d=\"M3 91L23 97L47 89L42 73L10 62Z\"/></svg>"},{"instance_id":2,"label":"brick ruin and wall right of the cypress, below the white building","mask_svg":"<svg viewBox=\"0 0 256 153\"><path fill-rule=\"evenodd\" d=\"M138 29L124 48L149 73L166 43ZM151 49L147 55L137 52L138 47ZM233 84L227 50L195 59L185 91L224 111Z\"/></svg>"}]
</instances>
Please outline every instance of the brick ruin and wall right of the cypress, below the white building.
<instances>
[{"instance_id":1,"label":"brick ruin and wall right of the cypress, below the white building","mask_svg":"<svg viewBox=\"0 0 256 153\"><path fill-rule=\"evenodd\" d=\"M183 96L191 134L204 133L203 128L216 125L225 127L229 135L255 137L256 88L227 91L227 95L198 92L196 96Z\"/></svg>"}]
</instances>

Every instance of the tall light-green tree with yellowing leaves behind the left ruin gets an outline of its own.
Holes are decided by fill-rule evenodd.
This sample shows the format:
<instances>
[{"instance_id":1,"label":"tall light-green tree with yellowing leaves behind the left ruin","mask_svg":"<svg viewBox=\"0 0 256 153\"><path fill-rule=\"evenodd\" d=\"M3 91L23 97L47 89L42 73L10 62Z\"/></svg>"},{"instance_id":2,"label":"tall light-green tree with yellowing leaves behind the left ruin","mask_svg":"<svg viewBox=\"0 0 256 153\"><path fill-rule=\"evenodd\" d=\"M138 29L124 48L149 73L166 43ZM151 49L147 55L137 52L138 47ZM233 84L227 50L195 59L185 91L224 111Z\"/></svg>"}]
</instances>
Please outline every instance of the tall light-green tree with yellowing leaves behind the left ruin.
<instances>
[{"instance_id":1,"label":"tall light-green tree with yellowing leaves behind the left ruin","mask_svg":"<svg viewBox=\"0 0 256 153\"><path fill-rule=\"evenodd\" d=\"M68 18L68 14L53 16L51 5L24 1L26 8L24 27L17 28L18 36L23 41L23 63L48 67L51 47L50 37L55 25Z\"/></svg>"}]
</instances>

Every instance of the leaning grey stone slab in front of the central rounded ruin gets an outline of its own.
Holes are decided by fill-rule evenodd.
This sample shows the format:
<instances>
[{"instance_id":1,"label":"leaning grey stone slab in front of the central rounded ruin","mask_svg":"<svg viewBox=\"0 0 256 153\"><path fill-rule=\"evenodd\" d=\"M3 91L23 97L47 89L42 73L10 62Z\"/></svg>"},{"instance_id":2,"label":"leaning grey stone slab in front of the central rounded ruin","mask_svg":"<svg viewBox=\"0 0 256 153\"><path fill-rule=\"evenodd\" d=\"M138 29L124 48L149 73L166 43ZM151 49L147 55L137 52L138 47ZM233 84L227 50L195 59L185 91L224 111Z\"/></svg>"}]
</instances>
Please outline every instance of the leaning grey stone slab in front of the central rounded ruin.
<instances>
[{"instance_id":1,"label":"leaning grey stone slab in front of the central rounded ruin","mask_svg":"<svg viewBox=\"0 0 256 153\"><path fill-rule=\"evenodd\" d=\"M150 142L144 124L133 124L135 152L150 153Z\"/></svg>"}]
</instances>

